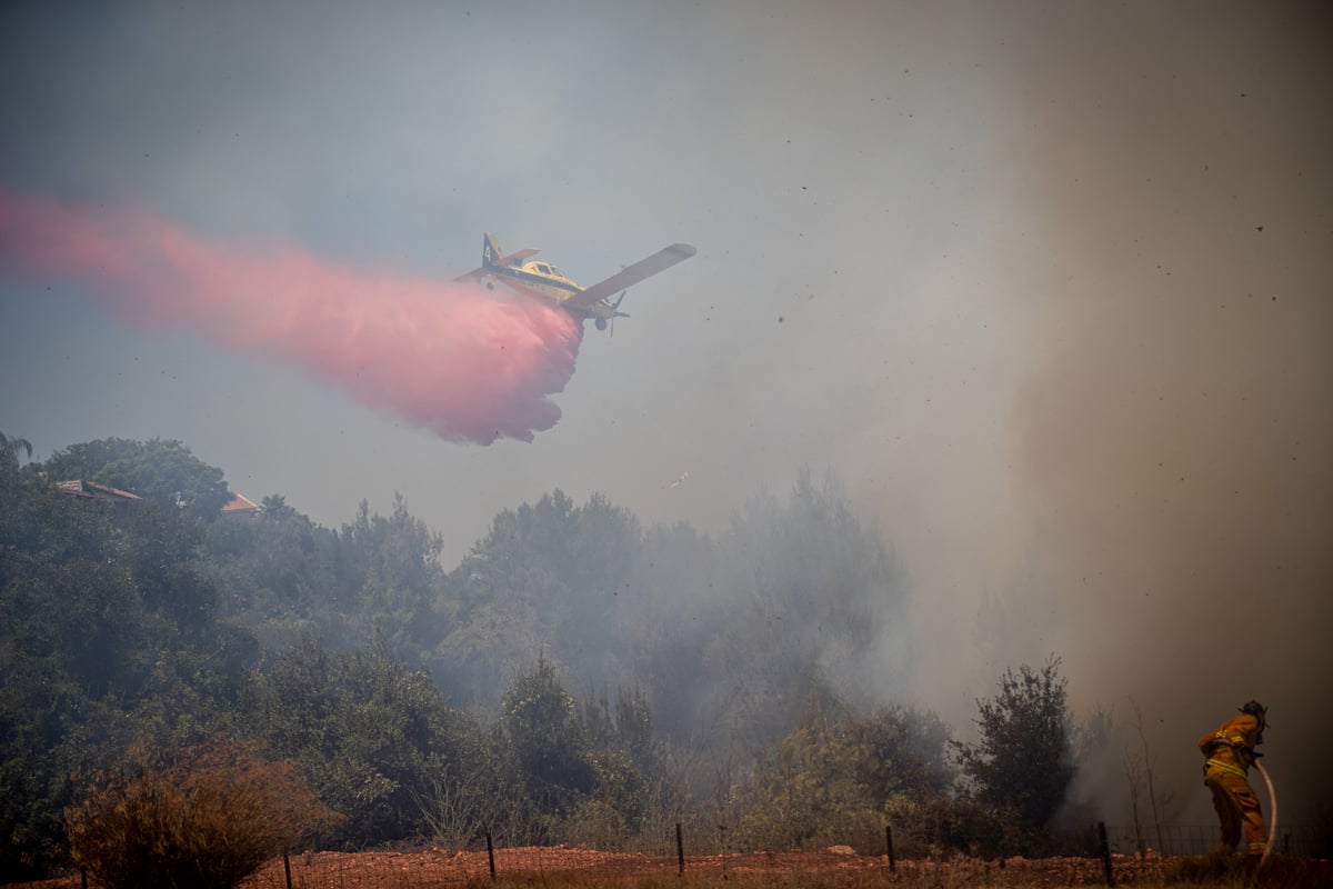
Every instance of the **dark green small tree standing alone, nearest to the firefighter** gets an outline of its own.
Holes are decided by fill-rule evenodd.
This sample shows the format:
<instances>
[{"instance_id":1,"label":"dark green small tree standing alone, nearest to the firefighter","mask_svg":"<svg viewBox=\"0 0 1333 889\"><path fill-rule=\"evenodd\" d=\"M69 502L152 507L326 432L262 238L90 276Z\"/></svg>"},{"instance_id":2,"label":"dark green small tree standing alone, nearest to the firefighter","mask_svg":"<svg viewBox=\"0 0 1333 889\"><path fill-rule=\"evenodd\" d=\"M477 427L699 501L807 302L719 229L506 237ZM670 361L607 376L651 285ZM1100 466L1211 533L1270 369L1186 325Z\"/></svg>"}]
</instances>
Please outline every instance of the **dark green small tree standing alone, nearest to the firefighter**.
<instances>
[{"instance_id":1,"label":"dark green small tree standing alone, nearest to the firefighter","mask_svg":"<svg viewBox=\"0 0 1333 889\"><path fill-rule=\"evenodd\" d=\"M980 740L953 748L977 800L1017 829L1020 852L1029 853L1042 845L1074 774L1066 682L1052 657L1040 670L1005 670L998 685L977 701Z\"/></svg>"}]
</instances>

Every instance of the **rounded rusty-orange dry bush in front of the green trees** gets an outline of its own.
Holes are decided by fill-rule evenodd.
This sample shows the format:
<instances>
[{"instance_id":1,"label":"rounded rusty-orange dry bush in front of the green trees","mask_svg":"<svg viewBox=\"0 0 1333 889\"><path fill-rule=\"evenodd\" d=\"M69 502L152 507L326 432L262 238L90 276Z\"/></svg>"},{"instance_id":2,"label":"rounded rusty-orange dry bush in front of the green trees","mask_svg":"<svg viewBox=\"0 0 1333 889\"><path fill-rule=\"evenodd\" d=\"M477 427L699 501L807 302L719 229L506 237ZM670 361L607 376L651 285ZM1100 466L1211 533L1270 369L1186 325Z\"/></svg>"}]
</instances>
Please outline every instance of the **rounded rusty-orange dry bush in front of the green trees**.
<instances>
[{"instance_id":1,"label":"rounded rusty-orange dry bush in front of the green trees","mask_svg":"<svg viewBox=\"0 0 1333 889\"><path fill-rule=\"evenodd\" d=\"M337 817L289 764L224 742L175 761L136 749L65 810L65 828L107 889L231 889Z\"/></svg>"}]
</instances>

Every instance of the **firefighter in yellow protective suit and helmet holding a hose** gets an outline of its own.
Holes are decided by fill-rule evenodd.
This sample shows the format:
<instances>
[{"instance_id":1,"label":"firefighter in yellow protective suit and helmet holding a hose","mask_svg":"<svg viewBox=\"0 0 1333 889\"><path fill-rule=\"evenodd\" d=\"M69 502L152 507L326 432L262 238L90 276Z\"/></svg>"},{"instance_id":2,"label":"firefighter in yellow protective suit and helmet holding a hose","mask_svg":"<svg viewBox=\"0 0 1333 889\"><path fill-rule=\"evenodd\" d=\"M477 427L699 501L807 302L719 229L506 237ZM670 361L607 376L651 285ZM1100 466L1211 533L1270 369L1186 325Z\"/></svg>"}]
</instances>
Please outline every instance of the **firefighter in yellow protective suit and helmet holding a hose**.
<instances>
[{"instance_id":1,"label":"firefighter in yellow protective suit and helmet holding a hose","mask_svg":"<svg viewBox=\"0 0 1333 889\"><path fill-rule=\"evenodd\" d=\"M1240 712L1200 738L1198 749L1206 760L1204 784L1213 792L1213 808L1222 822L1222 848L1234 849L1244 826L1246 853L1261 858L1268 849L1268 828L1246 773L1264 756L1254 748L1264 742L1268 710L1258 701L1249 701Z\"/></svg>"}]
</instances>

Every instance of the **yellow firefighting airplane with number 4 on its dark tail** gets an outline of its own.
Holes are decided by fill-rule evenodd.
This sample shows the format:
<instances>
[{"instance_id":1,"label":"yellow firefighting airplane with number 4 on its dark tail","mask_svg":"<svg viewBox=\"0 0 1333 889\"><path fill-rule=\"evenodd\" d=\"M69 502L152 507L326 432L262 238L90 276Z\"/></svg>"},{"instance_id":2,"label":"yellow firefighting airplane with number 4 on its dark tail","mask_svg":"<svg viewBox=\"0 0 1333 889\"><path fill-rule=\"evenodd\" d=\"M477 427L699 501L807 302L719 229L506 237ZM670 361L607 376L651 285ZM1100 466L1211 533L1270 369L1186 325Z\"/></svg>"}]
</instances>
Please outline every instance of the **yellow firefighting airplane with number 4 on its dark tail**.
<instances>
[{"instance_id":1,"label":"yellow firefighting airplane with number 4 on its dark tail","mask_svg":"<svg viewBox=\"0 0 1333 889\"><path fill-rule=\"evenodd\" d=\"M529 261L528 257L537 252L528 248L505 256L500 252L500 241L496 236L487 232L481 241L481 268L472 269L455 280L484 281L488 288L493 288L495 283L500 281L519 293L549 300L580 321L593 319L597 329L605 331L607 324L615 323L615 319L629 317L620 311L620 303L625 299L628 287L639 284L657 272L664 272L676 263L688 260L694 255L694 248L689 244L672 244L648 259L621 269L605 281L587 288L571 281L552 263ZM616 291L620 291L620 296L612 303L607 297Z\"/></svg>"}]
</instances>

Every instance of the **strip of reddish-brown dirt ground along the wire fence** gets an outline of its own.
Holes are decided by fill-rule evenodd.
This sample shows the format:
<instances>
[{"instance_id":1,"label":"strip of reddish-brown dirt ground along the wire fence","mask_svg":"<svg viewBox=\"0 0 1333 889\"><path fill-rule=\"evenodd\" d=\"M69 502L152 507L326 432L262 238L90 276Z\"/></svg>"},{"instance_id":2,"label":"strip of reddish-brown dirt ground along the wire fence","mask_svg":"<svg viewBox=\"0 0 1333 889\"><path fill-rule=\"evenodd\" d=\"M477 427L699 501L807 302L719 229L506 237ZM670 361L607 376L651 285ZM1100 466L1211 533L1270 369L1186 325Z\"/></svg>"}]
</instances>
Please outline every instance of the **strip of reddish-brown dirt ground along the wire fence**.
<instances>
[{"instance_id":1,"label":"strip of reddish-brown dirt ground along the wire fence","mask_svg":"<svg viewBox=\"0 0 1333 889\"><path fill-rule=\"evenodd\" d=\"M487 853L421 849L413 852L320 852L292 856L291 885L295 889L428 889L433 886L487 885L491 868ZM1173 868L1182 860L1116 856L1112 860L1118 885L1164 886L1176 882ZM644 885L674 878L674 856L655 857L529 846L496 849L496 876L501 884L521 885ZM1308 862L1302 878L1284 885L1333 885L1333 862ZM897 861L893 872L885 856L858 856L845 846L822 852L758 852L728 856L688 856L690 885L736 886L870 886L870 885L1008 885L1078 886L1105 885L1105 865L1089 858L1008 858L1004 861ZM1224 874L1196 873L1189 882L1212 882ZM1314 882L1306 882L1313 878ZM725 881L725 882L724 882ZM1224 880L1228 882L1229 880ZM1266 881L1265 881L1266 882ZM79 889L79 876L20 884L24 889ZM89 884L95 885L95 884ZM285 889L283 860L265 865L243 884L244 889ZM17 889L17 888L16 888Z\"/></svg>"}]
</instances>

